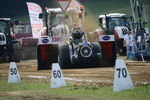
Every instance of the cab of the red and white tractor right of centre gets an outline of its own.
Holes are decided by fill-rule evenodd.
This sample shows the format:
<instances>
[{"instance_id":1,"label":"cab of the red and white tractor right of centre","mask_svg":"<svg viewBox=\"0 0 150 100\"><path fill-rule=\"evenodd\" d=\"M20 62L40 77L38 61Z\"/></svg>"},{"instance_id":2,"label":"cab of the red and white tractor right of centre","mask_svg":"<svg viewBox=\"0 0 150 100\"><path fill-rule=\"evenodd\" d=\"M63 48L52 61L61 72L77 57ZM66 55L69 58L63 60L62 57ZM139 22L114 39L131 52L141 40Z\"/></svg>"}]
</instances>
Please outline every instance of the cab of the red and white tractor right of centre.
<instances>
[{"instance_id":1,"label":"cab of the red and white tractor right of centre","mask_svg":"<svg viewBox=\"0 0 150 100\"><path fill-rule=\"evenodd\" d=\"M99 25L104 30L106 34L113 34L114 29L117 26L126 27L126 15L120 13L110 13L106 15L99 16Z\"/></svg>"}]
</instances>

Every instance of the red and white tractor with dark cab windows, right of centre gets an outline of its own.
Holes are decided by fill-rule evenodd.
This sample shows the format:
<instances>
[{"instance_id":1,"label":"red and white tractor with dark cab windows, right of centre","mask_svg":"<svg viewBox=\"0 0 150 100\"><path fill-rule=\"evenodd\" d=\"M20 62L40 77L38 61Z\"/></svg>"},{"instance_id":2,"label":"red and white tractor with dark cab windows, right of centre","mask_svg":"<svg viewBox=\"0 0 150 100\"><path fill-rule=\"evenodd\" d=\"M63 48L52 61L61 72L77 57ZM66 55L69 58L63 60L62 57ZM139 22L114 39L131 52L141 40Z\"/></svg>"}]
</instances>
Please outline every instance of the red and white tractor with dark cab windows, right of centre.
<instances>
[{"instance_id":1,"label":"red and white tractor with dark cab windows, right of centre","mask_svg":"<svg viewBox=\"0 0 150 100\"><path fill-rule=\"evenodd\" d=\"M127 34L128 22L125 14L110 13L99 16L99 25L104 35L115 35L117 53L126 54L126 48L123 47L124 36Z\"/></svg>"}]
</instances>

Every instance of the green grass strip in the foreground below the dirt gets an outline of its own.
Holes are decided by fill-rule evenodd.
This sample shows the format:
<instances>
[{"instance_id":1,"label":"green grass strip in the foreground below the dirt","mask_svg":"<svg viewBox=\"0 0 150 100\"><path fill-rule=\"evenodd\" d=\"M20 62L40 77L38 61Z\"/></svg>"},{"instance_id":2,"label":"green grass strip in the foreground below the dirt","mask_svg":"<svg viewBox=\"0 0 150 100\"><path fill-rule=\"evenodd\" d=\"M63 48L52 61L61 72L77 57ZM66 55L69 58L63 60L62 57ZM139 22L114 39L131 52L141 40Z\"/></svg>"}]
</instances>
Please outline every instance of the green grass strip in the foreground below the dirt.
<instances>
[{"instance_id":1,"label":"green grass strip in the foreground below the dirt","mask_svg":"<svg viewBox=\"0 0 150 100\"><path fill-rule=\"evenodd\" d=\"M7 95L1 99L21 99L21 97L36 96L45 99L49 96L61 98L93 98L98 100L149 100L150 86L135 87L132 90L113 92L113 87L89 87L86 85L77 86L68 84L66 87L51 89L50 83L22 82L21 84L8 84L7 81L0 81L0 93L19 92L19 95ZM91 99L92 100L92 99Z\"/></svg>"}]
</instances>

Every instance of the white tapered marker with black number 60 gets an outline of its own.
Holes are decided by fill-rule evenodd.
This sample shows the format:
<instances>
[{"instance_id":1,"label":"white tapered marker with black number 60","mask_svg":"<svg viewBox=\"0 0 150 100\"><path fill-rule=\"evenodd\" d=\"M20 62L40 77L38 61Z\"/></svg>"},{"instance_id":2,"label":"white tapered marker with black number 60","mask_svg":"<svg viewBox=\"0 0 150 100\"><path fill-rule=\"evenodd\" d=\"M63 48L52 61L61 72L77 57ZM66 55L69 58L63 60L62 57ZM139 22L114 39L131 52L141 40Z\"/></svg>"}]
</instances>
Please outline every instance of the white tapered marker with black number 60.
<instances>
[{"instance_id":1,"label":"white tapered marker with black number 60","mask_svg":"<svg viewBox=\"0 0 150 100\"><path fill-rule=\"evenodd\" d=\"M63 74L58 63L52 65L51 88L60 88L66 86Z\"/></svg>"}]
</instances>

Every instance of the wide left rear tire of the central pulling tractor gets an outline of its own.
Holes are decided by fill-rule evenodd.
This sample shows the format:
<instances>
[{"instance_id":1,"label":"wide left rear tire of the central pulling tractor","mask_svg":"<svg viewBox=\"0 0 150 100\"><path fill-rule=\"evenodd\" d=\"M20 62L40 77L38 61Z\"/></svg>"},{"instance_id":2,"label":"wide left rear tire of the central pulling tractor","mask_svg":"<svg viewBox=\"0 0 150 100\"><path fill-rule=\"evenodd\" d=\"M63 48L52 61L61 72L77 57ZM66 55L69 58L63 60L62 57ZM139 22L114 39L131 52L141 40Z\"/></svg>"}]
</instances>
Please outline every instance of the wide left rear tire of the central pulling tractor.
<instances>
[{"instance_id":1,"label":"wide left rear tire of the central pulling tractor","mask_svg":"<svg viewBox=\"0 0 150 100\"><path fill-rule=\"evenodd\" d=\"M67 44L60 44L58 46L58 62L61 68L71 68L69 47Z\"/></svg>"}]
</instances>

